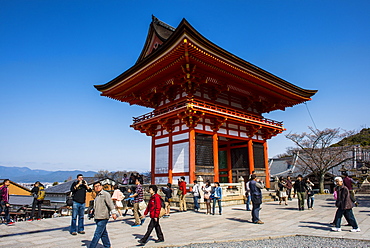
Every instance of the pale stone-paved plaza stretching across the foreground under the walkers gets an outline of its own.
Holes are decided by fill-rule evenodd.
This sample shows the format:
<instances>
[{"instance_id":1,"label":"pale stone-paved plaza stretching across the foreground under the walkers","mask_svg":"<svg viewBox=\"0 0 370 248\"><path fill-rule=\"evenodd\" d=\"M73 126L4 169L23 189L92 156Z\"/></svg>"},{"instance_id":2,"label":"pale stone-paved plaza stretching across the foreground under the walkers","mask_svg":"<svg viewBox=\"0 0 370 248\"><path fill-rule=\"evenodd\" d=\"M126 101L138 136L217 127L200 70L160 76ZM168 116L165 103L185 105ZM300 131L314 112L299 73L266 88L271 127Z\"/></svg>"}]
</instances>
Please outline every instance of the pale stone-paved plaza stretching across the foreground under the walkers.
<instances>
[{"instance_id":1,"label":"pale stone-paved plaza stretching across the foreground under the walkers","mask_svg":"<svg viewBox=\"0 0 370 248\"><path fill-rule=\"evenodd\" d=\"M260 213L263 225L250 222L251 213L245 211L245 205L228 206L223 209L223 215L205 215L204 211L195 213L176 212L170 218L161 219L165 242L156 244L157 238L153 231L147 247L225 247L220 242L245 242L246 240L261 240L285 238L287 242L298 235L302 237L352 239L370 244L370 195L358 196L360 205L354 208L354 214L361 228L359 233L351 233L351 227L342 226L342 232L331 232L330 222L333 221L336 208L330 195L316 195L314 210L297 210L297 200L290 201L288 206L278 205L278 202L267 202L262 205ZM131 214L131 211L129 211ZM0 225L0 247L84 247L90 244L95 223L85 221L84 235L69 234L71 217L44 219L33 222L17 222L14 226ZM342 223L345 223L343 218ZM141 227L133 228L133 216L128 215L108 223L108 232L112 247L135 247L137 239L141 238L149 224L149 218ZM298 237L297 236L297 237ZM294 239L294 238L293 238ZM320 247L317 239L312 239L310 247ZM209 245L213 243L214 245ZM101 243L100 243L101 244ZM207 244L207 245L206 245ZM348 243L348 246L351 246ZM258 245L257 245L258 246ZM264 245L269 247L270 245ZM286 247L302 247L299 244L287 243ZM336 246L336 245L335 245ZM345 247L339 245L336 247ZM360 245L364 247L363 245ZM98 247L103 247L99 245ZM232 247L232 246L230 246ZM242 247L242 246L240 246ZM281 246L279 246L281 247ZM308 246L305 246L308 247ZM328 247L328 246L326 246ZM367 245L366 247L370 247Z\"/></svg>"}]
</instances>

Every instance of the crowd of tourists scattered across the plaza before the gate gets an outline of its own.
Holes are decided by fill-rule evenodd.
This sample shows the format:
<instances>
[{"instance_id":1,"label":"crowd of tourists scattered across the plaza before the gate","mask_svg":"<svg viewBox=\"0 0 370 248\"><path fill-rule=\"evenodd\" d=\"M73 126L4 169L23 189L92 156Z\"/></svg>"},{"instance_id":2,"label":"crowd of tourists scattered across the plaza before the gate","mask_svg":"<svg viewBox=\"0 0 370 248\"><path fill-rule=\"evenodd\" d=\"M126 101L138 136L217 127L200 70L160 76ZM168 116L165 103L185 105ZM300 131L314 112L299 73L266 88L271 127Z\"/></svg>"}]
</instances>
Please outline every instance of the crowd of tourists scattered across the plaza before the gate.
<instances>
[{"instance_id":1,"label":"crowd of tourists scattered across the plaza before the gate","mask_svg":"<svg viewBox=\"0 0 370 248\"><path fill-rule=\"evenodd\" d=\"M89 247L96 247L99 240L102 241L104 247L110 247L110 240L107 232L106 225L110 218L116 220L118 217L125 217L127 212L131 209L134 216L134 223L132 227L142 226L145 222L146 216L149 215L150 222L147 227L147 231L144 236L138 240L139 245L145 245L151 235L153 229L155 229L158 239L156 243L164 242L164 234L162 232L159 220L160 218L169 218L171 202L176 192L179 199L179 211L186 212L186 195L188 192L192 194L194 201L194 211L200 211L200 199L203 196L205 203L205 214L215 215L216 206L218 208L218 214L222 215L222 188L219 182L213 184L207 180L205 185L199 185L197 180L193 181L193 186L190 191L187 189L185 177L180 177L177 182L177 191L173 189L172 184L168 183L162 188L158 188L156 185L149 186L150 199L146 203L144 200L144 189L142 186L143 178L140 175L132 174L128 177L126 174L122 179L122 185L124 187L114 186L113 194L111 195L107 191L103 190L103 185L100 181L93 184L90 188L87 182L83 179L82 174L77 175L77 180L71 185L72 192L72 218L70 225L70 234L78 235L85 234L84 231L84 216L85 216L85 201L87 192L95 192L95 199L90 202L88 208L88 217L94 218L96 223L95 233ZM336 177L334 179L335 190L334 198L336 200L337 211L334 216L334 221L331 223L334 225L332 231L341 231L341 219L344 216L348 224L352 226L351 232L360 232L360 228L356 222L353 214L353 206L357 206L358 202L355 198L352 184L356 183L345 175L342 177ZM5 179L2 187L0 187L0 213L4 212L5 221L8 225L13 225L14 222L9 216L9 179ZM259 218L259 212L262 204L262 189L265 187L264 182L260 180L257 175L252 172L249 175L246 189L246 210L251 211L252 222L255 224L264 224ZM292 198L298 198L298 210L304 211L305 201L307 209L314 209L314 190L315 185L309 180L304 179L302 175L298 175L295 181L292 181L288 176L287 178L280 177L276 182L276 196L279 201L279 205L288 205L288 201ZM158 194L161 191L164 195L164 199ZM41 219L41 204L45 197L44 186L40 182L36 182L31 190L31 194L34 197L32 204L31 217L29 221L34 220L34 214L36 207L38 207L38 213L36 219ZM252 207L250 206L252 205ZM142 213L144 211L144 213Z\"/></svg>"}]
</instances>

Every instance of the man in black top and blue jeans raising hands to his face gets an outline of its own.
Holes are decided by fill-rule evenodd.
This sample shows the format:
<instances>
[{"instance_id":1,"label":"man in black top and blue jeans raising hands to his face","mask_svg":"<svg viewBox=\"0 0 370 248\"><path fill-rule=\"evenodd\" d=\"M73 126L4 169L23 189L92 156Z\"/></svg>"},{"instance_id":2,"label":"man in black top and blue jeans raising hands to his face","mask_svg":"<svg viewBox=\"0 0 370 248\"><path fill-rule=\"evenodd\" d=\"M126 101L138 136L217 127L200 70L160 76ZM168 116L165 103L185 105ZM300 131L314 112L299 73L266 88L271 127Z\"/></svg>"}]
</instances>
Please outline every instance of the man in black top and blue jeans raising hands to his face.
<instances>
[{"instance_id":1,"label":"man in black top and blue jeans raising hands to his face","mask_svg":"<svg viewBox=\"0 0 370 248\"><path fill-rule=\"evenodd\" d=\"M87 185L86 181L83 179L82 174L77 175L77 180L73 182L71 186L72 192L72 221L70 233L72 235L85 234L84 231L84 215L85 215L85 201L86 201L86 192L91 192L92 189ZM78 226L77 224L78 216Z\"/></svg>"}]
</instances>

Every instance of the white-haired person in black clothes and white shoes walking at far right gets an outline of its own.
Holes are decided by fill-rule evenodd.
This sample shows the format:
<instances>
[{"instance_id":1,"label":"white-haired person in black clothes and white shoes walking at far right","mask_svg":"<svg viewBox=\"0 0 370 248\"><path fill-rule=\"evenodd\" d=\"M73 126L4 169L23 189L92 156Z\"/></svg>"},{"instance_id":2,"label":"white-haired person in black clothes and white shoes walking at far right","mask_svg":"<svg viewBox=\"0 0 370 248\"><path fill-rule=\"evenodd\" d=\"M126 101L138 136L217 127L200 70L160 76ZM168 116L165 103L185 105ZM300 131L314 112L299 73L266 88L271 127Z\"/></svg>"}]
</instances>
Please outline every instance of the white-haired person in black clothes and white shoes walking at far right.
<instances>
[{"instance_id":1,"label":"white-haired person in black clothes and white shoes walking at far right","mask_svg":"<svg viewBox=\"0 0 370 248\"><path fill-rule=\"evenodd\" d=\"M343 184L343 179L341 177L334 178L337 192L337 200L335 201L335 206L338 208L335 214L335 227L332 228L334 232L340 232L342 229L340 228L340 224L342 221L343 215L346 216L348 224L352 226L351 232L360 232L361 229L357 225L357 221L355 216L353 215L353 202L351 200L351 195L349 190Z\"/></svg>"}]
</instances>

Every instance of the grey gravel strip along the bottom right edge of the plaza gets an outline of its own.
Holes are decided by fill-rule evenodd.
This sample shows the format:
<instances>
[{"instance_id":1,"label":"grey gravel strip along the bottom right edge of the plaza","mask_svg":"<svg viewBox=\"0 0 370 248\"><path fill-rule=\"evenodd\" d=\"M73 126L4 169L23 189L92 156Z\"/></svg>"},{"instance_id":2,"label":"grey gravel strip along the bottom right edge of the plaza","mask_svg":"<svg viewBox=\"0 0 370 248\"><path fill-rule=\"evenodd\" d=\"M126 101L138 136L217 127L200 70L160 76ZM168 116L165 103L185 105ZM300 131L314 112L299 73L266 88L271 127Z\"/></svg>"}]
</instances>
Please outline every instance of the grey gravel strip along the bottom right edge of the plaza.
<instances>
[{"instance_id":1,"label":"grey gravel strip along the bottom right edge of the plaza","mask_svg":"<svg viewBox=\"0 0 370 248\"><path fill-rule=\"evenodd\" d=\"M202 243L181 246L181 248L203 247L370 247L370 241L338 238L320 238L310 236L293 236L276 239L246 240L223 243Z\"/></svg>"}]
</instances>

